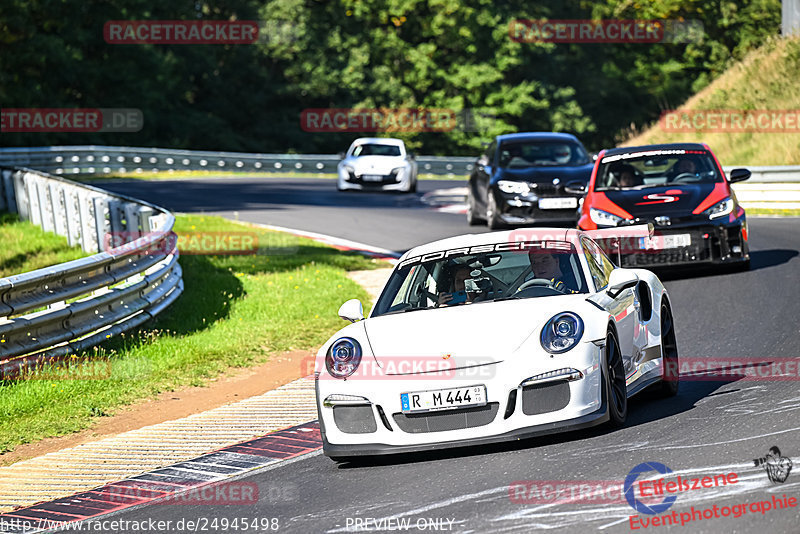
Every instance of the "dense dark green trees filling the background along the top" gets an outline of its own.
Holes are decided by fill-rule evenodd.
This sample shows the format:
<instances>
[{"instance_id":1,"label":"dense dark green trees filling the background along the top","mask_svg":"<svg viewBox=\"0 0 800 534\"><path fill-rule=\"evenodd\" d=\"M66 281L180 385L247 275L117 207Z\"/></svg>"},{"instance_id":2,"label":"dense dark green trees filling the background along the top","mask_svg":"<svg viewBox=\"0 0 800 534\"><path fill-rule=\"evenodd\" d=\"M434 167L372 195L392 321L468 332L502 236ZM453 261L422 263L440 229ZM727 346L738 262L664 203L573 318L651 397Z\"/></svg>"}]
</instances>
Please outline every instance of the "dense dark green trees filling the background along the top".
<instances>
[{"instance_id":1,"label":"dense dark green trees filling the background along the top","mask_svg":"<svg viewBox=\"0 0 800 534\"><path fill-rule=\"evenodd\" d=\"M518 18L697 20L704 32L515 42ZM260 20L274 33L255 45L106 43L106 21L129 19ZM778 34L780 0L7 0L0 27L2 107L138 108L145 120L137 133L3 133L5 146L338 152L357 134L305 132L303 109L422 106L491 115L482 132L403 134L420 153L473 154L512 131L615 143Z\"/></svg>"}]
</instances>

